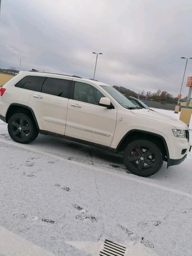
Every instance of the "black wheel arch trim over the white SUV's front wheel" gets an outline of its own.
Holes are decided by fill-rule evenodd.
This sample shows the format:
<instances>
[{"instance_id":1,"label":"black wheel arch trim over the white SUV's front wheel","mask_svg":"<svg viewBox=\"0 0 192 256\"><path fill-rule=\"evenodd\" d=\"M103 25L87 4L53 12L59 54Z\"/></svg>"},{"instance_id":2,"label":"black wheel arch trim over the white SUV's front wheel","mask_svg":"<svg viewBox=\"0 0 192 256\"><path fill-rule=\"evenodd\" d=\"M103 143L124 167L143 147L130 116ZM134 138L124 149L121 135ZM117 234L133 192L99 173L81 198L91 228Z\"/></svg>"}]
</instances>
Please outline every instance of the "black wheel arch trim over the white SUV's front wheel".
<instances>
[{"instance_id":1,"label":"black wheel arch trim over the white SUV's front wheel","mask_svg":"<svg viewBox=\"0 0 192 256\"><path fill-rule=\"evenodd\" d=\"M153 143L157 143L159 149L162 152L164 161L167 162L167 159L169 159L169 149L167 147L167 143L163 138L163 136L157 133L143 131L143 130L130 130L129 132L127 132L124 135L124 137L121 139L121 141L118 143L118 146L116 148L116 153L124 151L125 147L130 142L138 139L145 139Z\"/></svg>"}]
</instances>

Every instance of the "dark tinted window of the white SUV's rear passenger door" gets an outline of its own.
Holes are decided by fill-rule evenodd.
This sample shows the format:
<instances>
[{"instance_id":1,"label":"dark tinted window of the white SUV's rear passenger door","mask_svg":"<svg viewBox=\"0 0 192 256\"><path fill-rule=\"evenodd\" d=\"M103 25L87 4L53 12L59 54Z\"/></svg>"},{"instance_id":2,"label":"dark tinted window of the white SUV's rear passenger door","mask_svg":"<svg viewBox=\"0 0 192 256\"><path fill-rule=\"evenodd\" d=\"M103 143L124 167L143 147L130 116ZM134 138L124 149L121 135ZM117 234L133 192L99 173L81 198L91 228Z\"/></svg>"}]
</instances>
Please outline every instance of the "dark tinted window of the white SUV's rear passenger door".
<instances>
[{"instance_id":1,"label":"dark tinted window of the white SUV's rear passenger door","mask_svg":"<svg viewBox=\"0 0 192 256\"><path fill-rule=\"evenodd\" d=\"M65 79L46 78L43 84L42 92L68 98L69 83L70 81Z\"/></svg>"}]
</instances>

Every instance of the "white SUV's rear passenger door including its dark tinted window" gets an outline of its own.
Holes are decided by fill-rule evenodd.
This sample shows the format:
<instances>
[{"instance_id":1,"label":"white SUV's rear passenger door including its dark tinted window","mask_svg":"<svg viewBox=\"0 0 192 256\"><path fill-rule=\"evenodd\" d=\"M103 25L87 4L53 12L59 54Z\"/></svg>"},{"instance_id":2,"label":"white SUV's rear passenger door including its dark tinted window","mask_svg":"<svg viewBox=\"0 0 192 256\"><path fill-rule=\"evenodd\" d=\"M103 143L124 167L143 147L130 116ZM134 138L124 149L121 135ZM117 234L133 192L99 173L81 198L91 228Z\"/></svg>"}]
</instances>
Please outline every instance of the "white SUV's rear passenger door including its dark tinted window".
<instances>
[{"instance_id":1,"label":"white SUV's rear passenger door including its dark tinted window","mask_svg":"<svg viewBox=\"0 0 192 256\"><path fill-rule=\"evenodd\" d=\"M65 134L71 79L46 77L41 92L34 92L29 107L34 110L39 129Z\"/></svg>"}]
</instances>

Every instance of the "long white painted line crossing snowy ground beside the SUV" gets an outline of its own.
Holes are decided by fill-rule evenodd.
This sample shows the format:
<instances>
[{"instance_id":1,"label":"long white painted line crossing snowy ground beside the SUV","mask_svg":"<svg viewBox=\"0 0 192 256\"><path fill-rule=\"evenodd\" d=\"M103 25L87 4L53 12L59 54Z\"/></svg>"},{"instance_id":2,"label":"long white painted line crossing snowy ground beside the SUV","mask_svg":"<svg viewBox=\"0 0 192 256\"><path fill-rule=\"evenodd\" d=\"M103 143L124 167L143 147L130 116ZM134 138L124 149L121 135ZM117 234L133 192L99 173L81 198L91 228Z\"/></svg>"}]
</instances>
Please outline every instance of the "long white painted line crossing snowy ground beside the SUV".
<instances>
[{"instance_id":1,"label":"long white painted line crossing snowy ground beside the SUV","mask_svg":"<svg viewBox=\"0 0 192 256\"><path fill-rule=\"evenodd\" d=\"M34 148L30 147L30 146L25 146L25 145L19 144L19 143L14 142L14 141L7 141L7 140L4 140L4 139L0 139L0 141L6 143L8 145L13 145L13 146L18 147L18 148L22 148L22 149L26 149L26 150L29 150L29 151L33 151L33 152L38 153L38 154L42 154L44 156L49 156L49 157L52 157L52 158L56 158L56 159L59 159L60 161L65 161L67 163L73 163L75 165L83 166L83 167L86 167L86 168L89 168L89 169L93 169L93 170L97 170L99 172L102 172L102 173L105 173L105 174L109 174L109 175L113 175L113 176L118 177L118 178L123 178L123 179L129 180L129 181L140 183L142 185L147 185L149 187L158 188L158 189L161 189L161 190L164 190L164 191L168 191L168 192L180 195L180 196L186 196L186 197L192 198L192 194L189 194L189 193L177 190L177 189L167 188L167 187L155 184L155 183L150 182L150 181L146 181L146 178L142 178L142 177L134 178L134 177L131 177L130 174L117 173L113 169L110 169L110 171L108 171L108 170L104 169L105 167L103 167L101 169L98 166L87 165L85 163L75 162L73 160L68 160L68 159L63 158L61 156L57 156L57 155L54 155L54 154L51 154L51 153L47 153L47 152L42 151L42 150L34 149Z\"/></svg>"}]
</instances>

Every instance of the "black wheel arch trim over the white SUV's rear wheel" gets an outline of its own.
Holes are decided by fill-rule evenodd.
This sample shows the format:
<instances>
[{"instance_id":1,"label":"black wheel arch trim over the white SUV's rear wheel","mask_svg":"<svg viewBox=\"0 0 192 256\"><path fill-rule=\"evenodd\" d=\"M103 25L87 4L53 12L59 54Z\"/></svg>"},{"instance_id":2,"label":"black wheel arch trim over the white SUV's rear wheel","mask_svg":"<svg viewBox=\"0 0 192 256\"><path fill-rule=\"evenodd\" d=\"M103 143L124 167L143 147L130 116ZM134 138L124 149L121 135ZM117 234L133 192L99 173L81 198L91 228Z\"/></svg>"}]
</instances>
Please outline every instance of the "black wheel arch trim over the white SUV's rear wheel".
<instances>
[{"instance_id":1,"label":"black wheel arch trim over the white SUV's rear wheel","mask_svg":"<svg viewBox=\"0 0 192 256\"><path fill-rule=\"evenodd\" d=\"M38 126L37 119L35 117L33 109L31 109L30 107L28 107L26 105L22 105L19 103L11 103L11 105L9 106L9 108L6 111L5 122L8 123L10 117L16 113L23 113L23 114L26 114L29 117L33 118L33 120L37 126L37 129L39 130L39 126Z\"/></svg>"}]
</instances>

